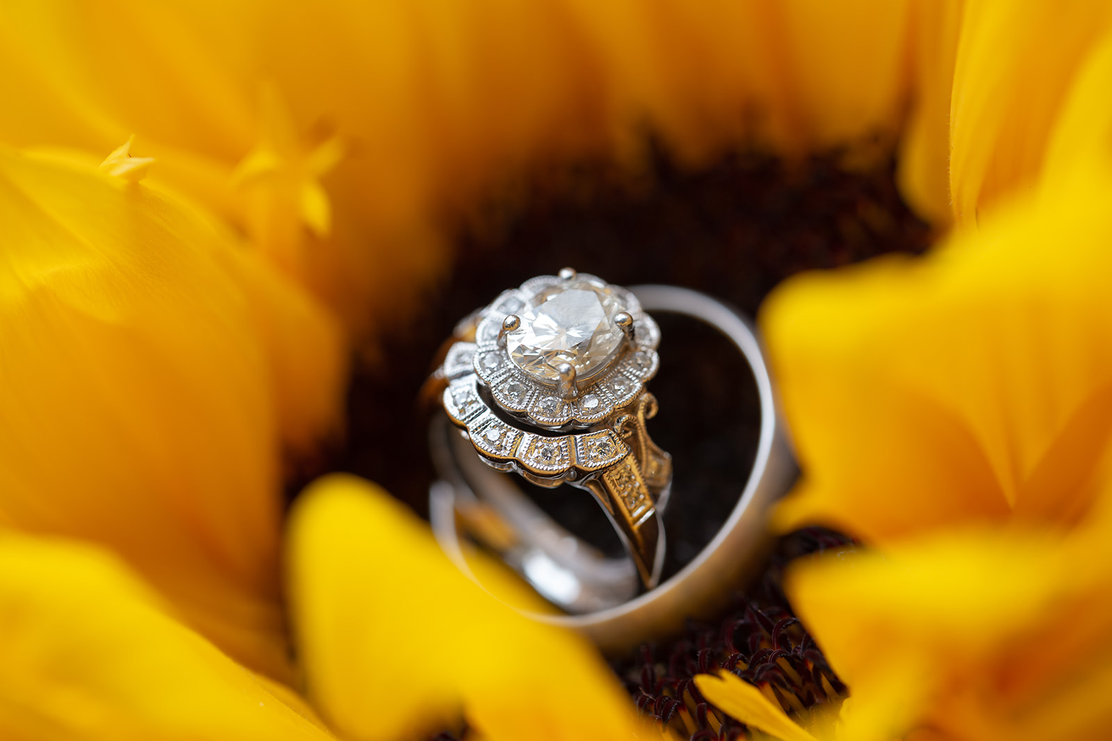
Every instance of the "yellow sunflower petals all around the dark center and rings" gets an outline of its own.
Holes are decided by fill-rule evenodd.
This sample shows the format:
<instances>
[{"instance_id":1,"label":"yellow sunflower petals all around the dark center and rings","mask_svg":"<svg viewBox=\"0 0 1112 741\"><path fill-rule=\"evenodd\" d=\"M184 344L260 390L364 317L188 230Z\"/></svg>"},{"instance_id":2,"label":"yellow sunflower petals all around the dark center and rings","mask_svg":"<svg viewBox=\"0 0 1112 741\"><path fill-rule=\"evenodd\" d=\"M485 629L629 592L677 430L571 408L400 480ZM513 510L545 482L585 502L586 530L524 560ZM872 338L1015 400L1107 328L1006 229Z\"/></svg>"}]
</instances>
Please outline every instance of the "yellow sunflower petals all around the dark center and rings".
<instances>
[{"instance_id":1,"label":"yellow sunflower petals all around the dark center and rings","mask_svg":"<svg viewBox=\"0 0 1112 741\"><path fill-rule=\"evenodd\" d=\"M3 3L0 730L1100 738L1110 20L1080 0ZM288 513L284 492L345 423L379 424L345 419L349 359L388 372L454 230L497 228L492 193L590 161L636 192L656 148L683 172L894 151L947 236L764 308L804 468L775 523L862 547L788 565L803 624L746 608L749 647L701 648L653 729L580 638L466 581L375 484L320 478ZM885 229L872 206L836 229Z\"/></svg>"}]
</instances>

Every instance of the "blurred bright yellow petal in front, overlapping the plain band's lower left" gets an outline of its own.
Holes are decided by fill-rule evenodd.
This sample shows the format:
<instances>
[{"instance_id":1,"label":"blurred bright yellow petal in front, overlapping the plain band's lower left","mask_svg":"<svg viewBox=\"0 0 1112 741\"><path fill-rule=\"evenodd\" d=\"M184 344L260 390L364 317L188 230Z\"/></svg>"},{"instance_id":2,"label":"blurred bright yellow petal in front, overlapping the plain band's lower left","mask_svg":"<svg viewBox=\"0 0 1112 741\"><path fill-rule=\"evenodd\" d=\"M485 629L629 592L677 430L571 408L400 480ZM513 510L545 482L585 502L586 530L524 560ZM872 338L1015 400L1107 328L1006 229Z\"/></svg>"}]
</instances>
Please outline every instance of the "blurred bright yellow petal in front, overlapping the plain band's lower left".
<instances>
[{"instance_id":1,"label":"blurred bright yellow petal in front, overlapping the plain band's lower left","mask_svg":"<svg viewBox=\"0 0 1112 741\"><path fill-rule=\"evenodd\" d=\"M373 484L319 480L291 518L298 653L310 697L342 734L419 738L460 715L492 741L623 739L639 728L583 639L480 590Z\"/></svg>"}]
</instances>

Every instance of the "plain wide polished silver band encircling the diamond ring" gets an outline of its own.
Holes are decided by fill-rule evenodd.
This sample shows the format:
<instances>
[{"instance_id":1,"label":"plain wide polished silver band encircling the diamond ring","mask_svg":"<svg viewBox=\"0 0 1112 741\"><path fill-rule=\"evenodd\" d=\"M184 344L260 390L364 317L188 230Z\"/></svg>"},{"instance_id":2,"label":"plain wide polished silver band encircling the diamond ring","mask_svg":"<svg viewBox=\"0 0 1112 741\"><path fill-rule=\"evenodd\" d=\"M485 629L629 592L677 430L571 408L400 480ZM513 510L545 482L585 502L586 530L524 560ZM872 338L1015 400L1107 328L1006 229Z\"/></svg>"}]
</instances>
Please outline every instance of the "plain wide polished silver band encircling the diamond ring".
<instances>
[{"instance_id":1,"label":"plain wide polished silver band encircling the diamond ring","mask_svg":"<svg viewBox=\"0 0 1112 741\"><path fill-rule=\"evenodd\" d=\"M797 474L764 356L749 324L722 302L696 291L669 286L631 290L647 311L692 317L728 338L747 360L759 399L756 455L737 503L712 541L664 583L637 595L641 582L631 559L608 559L558 525L509 475L478 460L471 444L460 439L443 415L430 430L434 463L441 480L430 489L429 514L445 553L481 587L465 558L459 523L468 523L473 534L481 533L483 513L495 513L494 519L508 527L510 537L488 533L479 539L493 545L542 595L578 613L530 617L577 629L612 651L669 632L685 618L705 613L727 598L729 587L763 555L766 510ZM682 503L683 492L677 497ZM665 504L662 498L657 510ZM498 547L499 541L503 547ZM663 554L657 559L661 561Z\"/></svg>"}]
</instances>

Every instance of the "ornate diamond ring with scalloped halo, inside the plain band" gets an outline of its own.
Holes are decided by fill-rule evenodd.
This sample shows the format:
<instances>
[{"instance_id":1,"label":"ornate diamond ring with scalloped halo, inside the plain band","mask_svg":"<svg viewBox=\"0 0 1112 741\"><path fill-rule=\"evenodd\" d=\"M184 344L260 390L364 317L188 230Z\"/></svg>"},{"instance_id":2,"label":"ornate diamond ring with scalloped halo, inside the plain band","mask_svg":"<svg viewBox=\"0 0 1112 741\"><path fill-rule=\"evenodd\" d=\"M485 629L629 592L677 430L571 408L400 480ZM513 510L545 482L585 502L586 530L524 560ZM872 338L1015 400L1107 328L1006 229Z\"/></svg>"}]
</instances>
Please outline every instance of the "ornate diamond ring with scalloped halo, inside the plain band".
<instances>
[{"instance_id":1,"label":"ornate diamond ring with scalloped halo, inside the plain band","mask_svg":"<svg viewBox=\"0 0 1112 741\"><path fill-rule=\"evenodd\" d=\"M656 587L672 457L645 429L657 410L645 383L659 367L661 331L637 298L565 268L505 291L456 334L437 377L447 381L444 410L478 459L542 487L589 491L641 584ZM553 599L550 579L512 565ZM628 575L620 581L624 599Z\"/></svg>"}]
</instances>

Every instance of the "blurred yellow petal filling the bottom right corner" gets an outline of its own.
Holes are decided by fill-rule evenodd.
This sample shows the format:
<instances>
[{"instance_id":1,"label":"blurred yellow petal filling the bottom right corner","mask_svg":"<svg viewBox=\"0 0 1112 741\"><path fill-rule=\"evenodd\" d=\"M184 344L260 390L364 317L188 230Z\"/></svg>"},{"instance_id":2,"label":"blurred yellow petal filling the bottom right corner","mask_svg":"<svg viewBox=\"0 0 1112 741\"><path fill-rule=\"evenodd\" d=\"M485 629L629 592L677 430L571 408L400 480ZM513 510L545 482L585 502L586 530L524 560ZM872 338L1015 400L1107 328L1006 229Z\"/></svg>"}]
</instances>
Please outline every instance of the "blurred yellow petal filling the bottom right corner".
<instances>
[{"instance_id":1,"label":"blurred yellow petal filling the bottom right corner","mask_svg":"<svg viewBox=\"0 0 1112 741\"><path fill-rule=\"evenodd\" d=\"M972 529L794 563L792 604L852 688L838 738L1106 737L1108 535Z\"/></svg>"}]
</instances>

